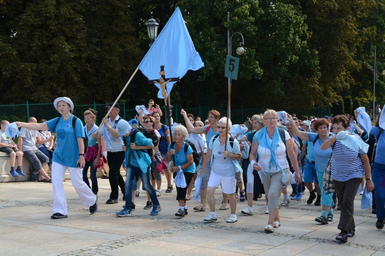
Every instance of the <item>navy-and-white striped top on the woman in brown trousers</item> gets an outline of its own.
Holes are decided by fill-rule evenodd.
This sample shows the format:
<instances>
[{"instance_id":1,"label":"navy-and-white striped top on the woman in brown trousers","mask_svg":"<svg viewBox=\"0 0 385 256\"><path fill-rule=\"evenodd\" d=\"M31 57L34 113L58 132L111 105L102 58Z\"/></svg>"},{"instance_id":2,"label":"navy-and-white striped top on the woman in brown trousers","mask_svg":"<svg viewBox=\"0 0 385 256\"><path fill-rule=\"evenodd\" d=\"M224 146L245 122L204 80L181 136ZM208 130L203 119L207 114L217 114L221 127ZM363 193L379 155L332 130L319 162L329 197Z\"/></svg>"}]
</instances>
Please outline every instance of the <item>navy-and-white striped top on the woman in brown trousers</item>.
<instances>
[{"instance_id":1,"label":"navy-and-white striped top on the woman in brown trousers","mask_svg":"<svg viewBox=\"0 0 385 256\"><path fill-rule=\"evenodd\" d=\"M365 152L359 148L358 153L336 141L332 157L332 178L336 181L362 179L364 175L362 160L359 155Z\"/></svg>"}]
</instances>

